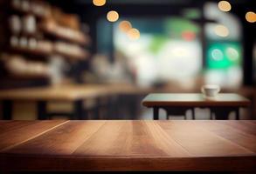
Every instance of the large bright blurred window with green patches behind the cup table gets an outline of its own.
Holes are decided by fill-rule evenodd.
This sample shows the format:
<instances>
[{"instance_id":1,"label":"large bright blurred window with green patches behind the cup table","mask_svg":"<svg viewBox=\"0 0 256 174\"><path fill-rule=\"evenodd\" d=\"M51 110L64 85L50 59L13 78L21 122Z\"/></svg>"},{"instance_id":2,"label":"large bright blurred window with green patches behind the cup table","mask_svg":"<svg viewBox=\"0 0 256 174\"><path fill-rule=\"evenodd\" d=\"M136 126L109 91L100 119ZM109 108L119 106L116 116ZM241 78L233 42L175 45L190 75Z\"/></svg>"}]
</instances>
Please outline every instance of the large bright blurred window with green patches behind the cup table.
<instances>
[{"instance_id":1,"label":"large bright blurred window with green patches behind the cup table","mask_svg":"<svg viewBox=\"0 0 256 174\"><path fill-rule=\"evenodd\" d=\"M197 23L180 17L126 18L140 31L130 39L114 23L114 50L127 57L135 67L137 83L150 85L158 81L190 86L202 70L200 32Z\"/></svg>"}]
</instances>

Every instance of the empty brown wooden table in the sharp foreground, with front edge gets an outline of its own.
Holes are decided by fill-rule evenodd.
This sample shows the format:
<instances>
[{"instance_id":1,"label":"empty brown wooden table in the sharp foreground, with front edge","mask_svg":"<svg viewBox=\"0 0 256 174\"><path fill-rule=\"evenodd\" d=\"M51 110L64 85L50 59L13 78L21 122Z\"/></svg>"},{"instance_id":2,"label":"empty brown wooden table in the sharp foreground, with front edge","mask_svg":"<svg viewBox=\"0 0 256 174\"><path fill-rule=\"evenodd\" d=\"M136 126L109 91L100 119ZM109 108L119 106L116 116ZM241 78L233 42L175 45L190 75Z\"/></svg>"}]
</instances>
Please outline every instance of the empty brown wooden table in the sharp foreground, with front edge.
<instances>
[{"instance_id":1,"label":"empty brown wooden table in the sharp foreground, with front edge","mask_svg":"<svg viewBox=\"0 0 256 174\"><path fill-rule=\"evenodd\" d=\"M0 171L255 171L256 121L0 121Z\"/></svg>"}]
</instances>

